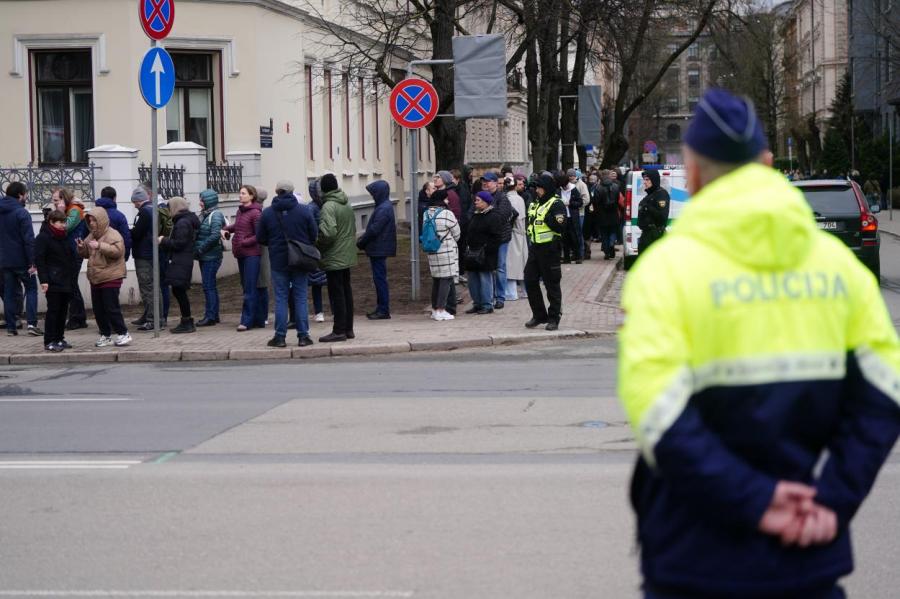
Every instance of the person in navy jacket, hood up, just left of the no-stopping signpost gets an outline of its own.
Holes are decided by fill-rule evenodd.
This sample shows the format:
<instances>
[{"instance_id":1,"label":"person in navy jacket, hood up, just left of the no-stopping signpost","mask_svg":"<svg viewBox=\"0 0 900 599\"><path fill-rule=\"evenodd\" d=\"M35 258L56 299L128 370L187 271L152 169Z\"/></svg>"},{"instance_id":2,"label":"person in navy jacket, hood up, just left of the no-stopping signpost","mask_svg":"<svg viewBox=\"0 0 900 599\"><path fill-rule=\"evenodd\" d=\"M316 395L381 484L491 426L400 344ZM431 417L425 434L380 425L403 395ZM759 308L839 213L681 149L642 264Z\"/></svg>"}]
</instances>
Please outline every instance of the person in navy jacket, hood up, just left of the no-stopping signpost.
<instances>
[{"instance_id":1,"label":"person in navy jacket, hood up, just left of the no-stopping signpost","mask_svg":"<svg viewBox=\"0 0 900 599\"><path fill-rule=\"evenodd\" d=\"M366 230L357 240L356 247L366 252L372 265L372 281L375 283L377 304L366 314L369 320L388 320L391 317L390 292L387 281L387 259L397 255L397 222L391 203L391 187L381 179L366 185L366 191L375 200Z\"/></svg>"}]
</instances>

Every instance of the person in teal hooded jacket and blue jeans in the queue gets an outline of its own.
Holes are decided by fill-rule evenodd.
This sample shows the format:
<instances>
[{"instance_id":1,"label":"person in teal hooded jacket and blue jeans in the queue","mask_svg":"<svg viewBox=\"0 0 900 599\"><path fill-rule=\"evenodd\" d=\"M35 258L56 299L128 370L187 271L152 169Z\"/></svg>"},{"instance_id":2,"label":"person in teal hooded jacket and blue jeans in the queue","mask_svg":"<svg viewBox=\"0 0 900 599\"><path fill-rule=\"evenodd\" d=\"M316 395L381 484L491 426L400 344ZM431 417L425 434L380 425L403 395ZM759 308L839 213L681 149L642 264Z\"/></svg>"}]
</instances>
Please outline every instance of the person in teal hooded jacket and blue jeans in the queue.
<instances>
[{"instance_id":1,"label":"person in teal hooded jacket and blue jeans in the queue","mask_svg":"<svg viewBox=\"0 0 900 599\"><path fill-rule=\"evenodd\" d=\"M194 242L194 254L200 262L200 278L203 281L204 310L198 327L211 327L219 323L219 288L216 275L222 266L225 246L222 244L222 228L225 215L219 210L219 194L213 189L200 192L200 230Z\"/></svg>"}]
</instances>

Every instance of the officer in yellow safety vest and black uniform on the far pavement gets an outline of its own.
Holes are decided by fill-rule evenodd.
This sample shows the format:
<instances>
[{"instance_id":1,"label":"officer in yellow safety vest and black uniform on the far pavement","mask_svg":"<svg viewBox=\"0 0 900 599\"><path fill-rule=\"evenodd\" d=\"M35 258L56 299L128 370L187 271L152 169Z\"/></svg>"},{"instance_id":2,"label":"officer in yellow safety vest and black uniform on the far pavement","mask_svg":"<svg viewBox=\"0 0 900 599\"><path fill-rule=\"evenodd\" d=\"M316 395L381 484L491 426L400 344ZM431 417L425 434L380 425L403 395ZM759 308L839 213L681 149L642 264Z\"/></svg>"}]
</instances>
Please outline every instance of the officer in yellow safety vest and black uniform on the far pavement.
<instances>
[{"instance_id":1,"label":"officer in yellow safety vest and black uniform on the far pavement","mask_svg":"<svg viewBox=\"0 0 900 599\"><path fill-rule=\"evenodd\" d=\"M559 263L560 238L566 228L566 206L559 199L556 182L550 175L538 177L535 198L528 205L526 235L528 261L525 263L525 290L531 305L529 329L546 324L548 331L559 328L562 316L562 267ZM549 310L544 306L541 281L547 288Z\"/></svg>"}]
</instances>

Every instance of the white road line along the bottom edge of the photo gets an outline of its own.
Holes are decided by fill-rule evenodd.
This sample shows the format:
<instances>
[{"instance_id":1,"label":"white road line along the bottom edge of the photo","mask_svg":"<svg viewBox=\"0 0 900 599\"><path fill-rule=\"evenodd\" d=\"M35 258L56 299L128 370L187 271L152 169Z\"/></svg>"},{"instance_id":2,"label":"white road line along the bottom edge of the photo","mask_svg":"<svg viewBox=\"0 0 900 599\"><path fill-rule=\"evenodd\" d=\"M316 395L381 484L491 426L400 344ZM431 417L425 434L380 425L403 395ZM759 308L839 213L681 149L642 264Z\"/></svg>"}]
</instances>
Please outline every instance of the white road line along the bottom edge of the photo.
<instances>
[{"instance_id":1,"label":"white road line along the bottom edge of the photo","mask_svg":"<svg viewBox=\"0 0 900 599\"><path fill-rule=\"evenodd\" d=\"M295 597L300 599L367 599L370 597L412 597L413 591L51 591L0 590L0 597Z\"/></svg>"}]
</instances>

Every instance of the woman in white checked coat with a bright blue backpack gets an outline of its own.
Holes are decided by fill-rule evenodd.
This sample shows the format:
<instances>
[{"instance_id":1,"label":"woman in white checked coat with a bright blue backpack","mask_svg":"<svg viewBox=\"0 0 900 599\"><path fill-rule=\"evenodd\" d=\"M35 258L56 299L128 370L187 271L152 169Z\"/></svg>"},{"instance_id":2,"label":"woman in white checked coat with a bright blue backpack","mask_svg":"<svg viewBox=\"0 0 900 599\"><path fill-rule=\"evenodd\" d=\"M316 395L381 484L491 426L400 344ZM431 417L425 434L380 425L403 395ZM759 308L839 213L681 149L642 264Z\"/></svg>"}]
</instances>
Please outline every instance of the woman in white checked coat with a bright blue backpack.
<instances>
[{"instance_id":1,"label":"woman in white checked coat with a bright blue backpack","mask_svg":"<svg viewBox=\"0 0 900 599\"><path fill-rule=\"evenodd\" d=\"M428 210L423 216L423 226L433 220L441 247L428 254L431 269L431 318L453 320L456 314L456 286L453 280L459 276L460 228L453 212L447 207L447 191L435 190L431 194Z\"/></svg>"}]
</instances>

